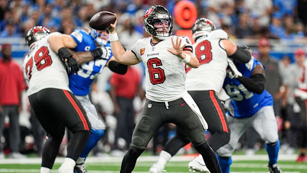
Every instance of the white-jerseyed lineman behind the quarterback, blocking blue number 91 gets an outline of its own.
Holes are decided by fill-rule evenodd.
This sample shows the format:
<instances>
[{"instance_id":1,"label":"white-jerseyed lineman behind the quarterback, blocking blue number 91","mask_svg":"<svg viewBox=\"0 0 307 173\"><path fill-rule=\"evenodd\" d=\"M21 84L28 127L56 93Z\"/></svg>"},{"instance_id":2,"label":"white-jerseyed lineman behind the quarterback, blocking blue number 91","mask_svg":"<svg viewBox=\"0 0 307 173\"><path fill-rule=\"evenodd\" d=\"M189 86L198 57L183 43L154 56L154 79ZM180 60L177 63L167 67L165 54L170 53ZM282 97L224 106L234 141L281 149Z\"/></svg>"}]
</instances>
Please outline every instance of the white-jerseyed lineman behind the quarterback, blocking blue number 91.
<instances>
[{"instance_id":1,"label":"white-jerseyed lineman behind the quarterback, blocking blue number 91","mask_svg":"<svg viewBox=\"0 0 307 173\"><path fill-rule=\"evenodd\" d=\"M227 33L215 30L215 25L206 18L198 19L192 27L193 53L200 62L199 68L186 68L186 88L202 115L208 123L211 133L208 143L216 152L230 140L230 129L227 124L225 109L218 99L226 77L227 57L239 62L248 62L251 52L237 47L229 40ZM153 164L150 173L161 173L165 164L178 150L190 143L186 135L177 128L176 135L171 138L160 153L158 161ZM202 155L189 163L190 171L208 172Z\"/></svg>"}]
</instances>

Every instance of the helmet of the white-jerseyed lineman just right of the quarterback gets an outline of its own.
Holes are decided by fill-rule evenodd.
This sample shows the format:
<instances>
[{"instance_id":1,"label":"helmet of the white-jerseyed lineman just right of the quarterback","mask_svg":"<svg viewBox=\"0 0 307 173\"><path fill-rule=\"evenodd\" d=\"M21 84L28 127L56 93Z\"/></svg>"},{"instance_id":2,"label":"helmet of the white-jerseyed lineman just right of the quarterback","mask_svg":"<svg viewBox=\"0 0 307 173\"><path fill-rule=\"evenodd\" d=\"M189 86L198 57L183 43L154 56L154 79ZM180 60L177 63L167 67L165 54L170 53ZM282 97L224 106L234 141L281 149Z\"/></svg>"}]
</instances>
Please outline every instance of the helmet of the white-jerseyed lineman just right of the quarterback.
<instances>
[{"instance_id":1,"label":"helmet of the white-jerseyed lineman just right of the quarterback","mask_svg":"<svg viewBox=\"0 0 307 173\"><path fill-rule=\"evenodd\" d=\"M199 37L206 36L215 29L212 21L207 18L200 18L192 26L193 40L196 41Z\"/></svg>"}]
</instances>

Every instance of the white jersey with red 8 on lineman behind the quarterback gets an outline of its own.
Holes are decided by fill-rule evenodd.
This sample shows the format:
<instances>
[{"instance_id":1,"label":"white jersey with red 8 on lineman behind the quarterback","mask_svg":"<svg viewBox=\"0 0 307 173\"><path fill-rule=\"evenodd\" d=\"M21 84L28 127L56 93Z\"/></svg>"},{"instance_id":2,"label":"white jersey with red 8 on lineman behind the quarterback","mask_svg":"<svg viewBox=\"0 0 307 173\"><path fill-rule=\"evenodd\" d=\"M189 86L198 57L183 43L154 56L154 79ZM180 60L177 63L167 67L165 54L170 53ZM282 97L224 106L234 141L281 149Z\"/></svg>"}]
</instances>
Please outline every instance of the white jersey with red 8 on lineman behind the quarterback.
<instances>
[{"instance_id":1,"label":"white jersey with red 8 on lineman behind the quarterback","mask_svg":"<svg viewBox=\"0 0 307 173\"><path fill-rule=\"evenodd\" d=\"M226 77L227 53L222 40L229 39L223 30L214 30L193 44L193 54L200 61L199 68L186 66L188 91L213 90L219 93Z\"/></svg>"}]
</instances>

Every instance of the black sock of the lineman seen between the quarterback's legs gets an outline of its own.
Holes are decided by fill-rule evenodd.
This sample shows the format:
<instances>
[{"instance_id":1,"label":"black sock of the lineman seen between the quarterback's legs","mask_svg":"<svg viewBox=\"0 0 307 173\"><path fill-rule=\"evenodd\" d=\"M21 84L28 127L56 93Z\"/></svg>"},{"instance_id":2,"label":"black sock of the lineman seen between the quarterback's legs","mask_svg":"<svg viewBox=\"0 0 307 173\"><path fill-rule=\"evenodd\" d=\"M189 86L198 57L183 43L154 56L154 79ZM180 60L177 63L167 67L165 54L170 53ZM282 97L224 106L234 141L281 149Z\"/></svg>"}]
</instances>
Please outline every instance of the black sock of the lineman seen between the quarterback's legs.
<instances>
[{"instance_id":1,"label":"black sock of the lineman seen between the quarterback's legs","mask_svg":"<svg viewBox=\"0 0 307 173\"><path fill-rule=\"evenodd\" d=\"M190 140L187 137L184 138L176 134L166 142L163 150L173 157L180 150L180 148L186 146L188 143L190 143Z\"/></svg>"}]
</instances>

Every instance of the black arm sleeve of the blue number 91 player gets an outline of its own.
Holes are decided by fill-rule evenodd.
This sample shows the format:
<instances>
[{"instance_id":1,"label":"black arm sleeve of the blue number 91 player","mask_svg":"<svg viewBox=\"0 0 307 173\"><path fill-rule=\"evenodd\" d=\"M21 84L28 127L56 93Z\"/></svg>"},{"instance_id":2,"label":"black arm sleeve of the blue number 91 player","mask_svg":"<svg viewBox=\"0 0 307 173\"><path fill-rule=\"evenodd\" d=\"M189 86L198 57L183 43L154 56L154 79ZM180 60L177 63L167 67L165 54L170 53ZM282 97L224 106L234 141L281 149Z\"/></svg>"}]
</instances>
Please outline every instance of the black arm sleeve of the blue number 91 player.
<instances>
[{"instance_id":1,"label":"black arm sleeve of the blue number 91 player","mask_svg":"<svg viewBox=\"0 0 307 173\"><path fill-rule=\"evenodd\" d=\"M239 76L238 80L246 89L256 94L261 94L264 91L265 76L263 74L254 74L251 78Z\"/></svg>"}]
</instances>

